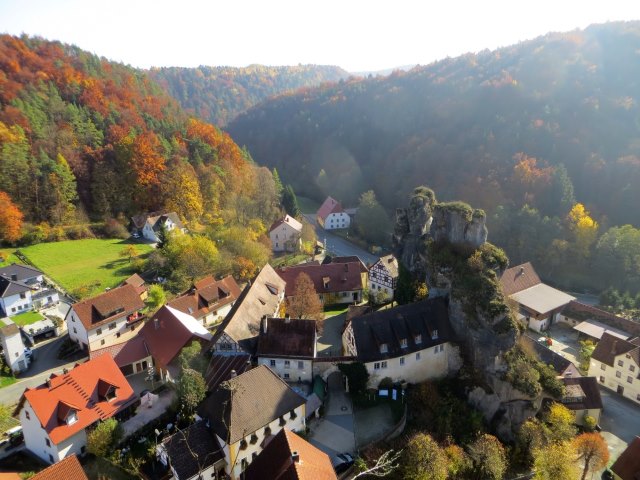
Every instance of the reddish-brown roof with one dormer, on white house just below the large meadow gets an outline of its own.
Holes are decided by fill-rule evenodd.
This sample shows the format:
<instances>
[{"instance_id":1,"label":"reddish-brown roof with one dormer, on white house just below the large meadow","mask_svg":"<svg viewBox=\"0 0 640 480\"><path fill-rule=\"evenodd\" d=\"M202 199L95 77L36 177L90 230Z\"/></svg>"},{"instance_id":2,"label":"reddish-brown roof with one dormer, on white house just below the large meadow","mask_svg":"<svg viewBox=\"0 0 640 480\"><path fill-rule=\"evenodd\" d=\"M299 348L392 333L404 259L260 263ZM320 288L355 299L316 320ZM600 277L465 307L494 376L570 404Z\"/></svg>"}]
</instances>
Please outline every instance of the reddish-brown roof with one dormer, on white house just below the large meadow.
<instances>
[{"instance_id":1,"label":"reddish-brown roof with one dormer, on white house just below the large meadow","mask_svg":"<svg viewBox=\"0 0 640 480\"><path fill-rule=\"evenodd\" d=\"M133 285L123 285L97 297L74 303L71 308L88 331L144 308L144 302Z\"/></svg>"}]
</instances>

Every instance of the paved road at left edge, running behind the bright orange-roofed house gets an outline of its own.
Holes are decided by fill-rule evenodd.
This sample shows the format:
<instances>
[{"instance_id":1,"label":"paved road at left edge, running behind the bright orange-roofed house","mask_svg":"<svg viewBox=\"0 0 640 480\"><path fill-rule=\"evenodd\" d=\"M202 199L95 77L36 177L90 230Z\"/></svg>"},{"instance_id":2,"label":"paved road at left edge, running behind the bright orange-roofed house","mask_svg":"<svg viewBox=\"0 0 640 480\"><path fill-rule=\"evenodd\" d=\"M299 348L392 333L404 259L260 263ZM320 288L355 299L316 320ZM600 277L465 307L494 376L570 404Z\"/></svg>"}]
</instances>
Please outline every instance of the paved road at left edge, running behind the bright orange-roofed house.
<instances>
[{"instance_id":1,"label":"paved road at left edge, running behind the bright orange-roofed house","mask_svg":"<svg viewBox=\"0 0 640 480\"><path fill-rule=\"evenodd\" d=\"M38 343L33 348L35 362L31 364L27 372L18 377L16 383L0 389L0 403L14 405L20 400L25 388L37 387L44 383L52 373L61 373L64 368L71 369L78 361L83 361L82 358L71 362L68 359L60 360L57 358L58 349L67 338L68 335L65 334Z\"/></svg>"}]
</instances>

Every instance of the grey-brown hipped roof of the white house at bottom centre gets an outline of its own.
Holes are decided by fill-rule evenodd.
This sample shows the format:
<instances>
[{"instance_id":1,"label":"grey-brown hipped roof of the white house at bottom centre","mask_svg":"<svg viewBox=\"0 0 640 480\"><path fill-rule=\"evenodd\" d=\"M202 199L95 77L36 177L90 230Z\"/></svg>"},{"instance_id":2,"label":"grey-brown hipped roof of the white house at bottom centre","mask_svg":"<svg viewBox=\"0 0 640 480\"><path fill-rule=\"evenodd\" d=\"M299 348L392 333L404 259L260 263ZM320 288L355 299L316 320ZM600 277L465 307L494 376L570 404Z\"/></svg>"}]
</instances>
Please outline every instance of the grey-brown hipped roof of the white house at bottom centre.
<instances>
[{"instance_id":1,"label":"grey-brown hipped roof of the white house at bottom centre","mask_svg":"<svg viewBox=\"0 0 640 480\"><path fill-rule=\"evenodd\" d=\"M304 403L269 367L260 365L220 384L200 404L198 415L233 444Z\"/></svg>"}]
</instances>

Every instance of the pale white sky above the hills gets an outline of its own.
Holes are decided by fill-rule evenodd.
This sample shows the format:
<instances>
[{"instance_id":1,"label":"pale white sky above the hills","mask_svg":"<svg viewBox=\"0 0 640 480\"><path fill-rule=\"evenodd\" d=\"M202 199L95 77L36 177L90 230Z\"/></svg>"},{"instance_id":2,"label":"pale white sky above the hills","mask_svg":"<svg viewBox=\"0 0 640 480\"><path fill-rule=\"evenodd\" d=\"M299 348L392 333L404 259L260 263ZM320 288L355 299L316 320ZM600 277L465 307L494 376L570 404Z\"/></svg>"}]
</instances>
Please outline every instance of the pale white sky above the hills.
<instances>
[{"instance_id":1,"label":"pale white sky above the hills","mask_svg":"<svg viewBox=\"0 0 640 480\"><path fill-rule=\"evenodd\" d=\"M426 65L550 31L640 20L638 0L0 0L0 32L134 67Z\"/></svg>"}]
</instances>

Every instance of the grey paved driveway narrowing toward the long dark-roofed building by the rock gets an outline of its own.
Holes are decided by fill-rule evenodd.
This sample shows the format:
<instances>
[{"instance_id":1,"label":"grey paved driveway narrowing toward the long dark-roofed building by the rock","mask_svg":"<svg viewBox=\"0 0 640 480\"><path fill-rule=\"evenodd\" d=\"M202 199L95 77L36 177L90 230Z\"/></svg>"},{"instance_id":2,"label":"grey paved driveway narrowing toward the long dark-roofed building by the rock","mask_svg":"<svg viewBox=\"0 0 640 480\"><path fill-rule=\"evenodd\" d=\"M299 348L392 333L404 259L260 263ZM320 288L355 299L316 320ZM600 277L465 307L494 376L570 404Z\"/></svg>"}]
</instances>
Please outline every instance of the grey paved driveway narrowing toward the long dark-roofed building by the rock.
<instances>
[{"instance_id":1,"label":"grey paved driveway narrowing toward the long dark-roofed building by the rock","mask_svg":"<svg viewBox=\"0 0 640 480\"><path fill-rule=\"evenodd\" d=\"M332 373L328 378L329 394L324 417L309 425L309 442L330 458L337 453L356 451L351 399L344 391L342 374Z\"/></svg>"}]
</instances>

